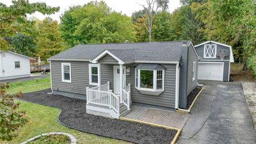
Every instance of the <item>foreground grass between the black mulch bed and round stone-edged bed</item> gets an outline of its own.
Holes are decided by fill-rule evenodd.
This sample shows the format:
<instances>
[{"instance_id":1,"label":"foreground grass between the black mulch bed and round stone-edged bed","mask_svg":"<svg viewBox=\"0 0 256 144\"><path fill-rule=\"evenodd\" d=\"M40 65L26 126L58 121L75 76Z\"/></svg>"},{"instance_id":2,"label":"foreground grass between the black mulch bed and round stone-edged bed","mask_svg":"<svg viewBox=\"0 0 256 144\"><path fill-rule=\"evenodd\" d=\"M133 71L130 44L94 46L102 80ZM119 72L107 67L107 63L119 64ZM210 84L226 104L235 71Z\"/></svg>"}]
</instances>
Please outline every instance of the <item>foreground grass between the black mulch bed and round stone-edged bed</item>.
<instances>
[{"instance_id":1,"label":"foreground grass between the black mulch bed and round stone-edged bed","mask_svg":"<svg viewBox=\"0 0 256 144\"><path fill-rule=\"evenodd\" d=\"M57 122L58 115L60 115L60 109L51 108L48 106L42 106L40 104L33 104L31 102L20 102L20 109L26 111L26 115L29 117L29 123L19 129L19 136L12 141L0 141L0 144L9 143L22 143L23 141L32 138L38 134L46 132L67 132L72 134L77 139L77 143L128 143L126 141L115 140L113 138L106 138L103 136L97 136L95 134L88 134L85 132L69 129Z\"/></svg>"}]
</instances>

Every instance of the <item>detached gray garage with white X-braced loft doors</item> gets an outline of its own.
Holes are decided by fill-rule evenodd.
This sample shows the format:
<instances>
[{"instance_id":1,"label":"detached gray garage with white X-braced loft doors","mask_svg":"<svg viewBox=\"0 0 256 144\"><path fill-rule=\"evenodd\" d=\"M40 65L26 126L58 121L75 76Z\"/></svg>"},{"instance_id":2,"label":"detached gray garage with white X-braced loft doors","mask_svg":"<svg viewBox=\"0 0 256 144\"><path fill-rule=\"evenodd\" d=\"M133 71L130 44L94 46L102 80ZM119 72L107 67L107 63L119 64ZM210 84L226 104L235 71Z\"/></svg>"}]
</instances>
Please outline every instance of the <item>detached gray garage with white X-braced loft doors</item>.
<instances>
[{"instance_id":1,"label":"detached gray garage with white X-braced loft doors","mask_svg":"<svg viewBox=\"0 0 256 144\"><path fill-rule=\"evenodd\" d=\"M195 45L198 53L198 80L229 81L230 63L234 63L232 47L214 41Z\"/></svg>"}]
</instances>

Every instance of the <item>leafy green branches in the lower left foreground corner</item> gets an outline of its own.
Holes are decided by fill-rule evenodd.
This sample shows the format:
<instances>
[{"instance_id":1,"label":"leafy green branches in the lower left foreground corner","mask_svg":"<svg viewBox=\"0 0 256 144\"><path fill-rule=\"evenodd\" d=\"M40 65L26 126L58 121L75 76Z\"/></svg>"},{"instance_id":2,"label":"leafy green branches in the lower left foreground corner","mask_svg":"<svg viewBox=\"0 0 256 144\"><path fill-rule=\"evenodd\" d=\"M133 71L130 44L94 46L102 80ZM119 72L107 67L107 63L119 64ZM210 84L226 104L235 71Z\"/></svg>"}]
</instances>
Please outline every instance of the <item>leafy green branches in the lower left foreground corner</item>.
<instances>
[{"instance_id":1,"label":"leafy green branches in the lower left foreground corner","mask_svg":"<svg viewBox=\"0 0 256 144\"><path fill-rule=\"evenodd\" d=\"M20 103L15 102L15 97L22 97L22 93L8 94L6 90L9 88L7 84L1 84L0 88L0 139L12 140L17 136L19 127L28 123L29 119L25 116L25 111L19 110Z\"/></svg>"}]
</instances>

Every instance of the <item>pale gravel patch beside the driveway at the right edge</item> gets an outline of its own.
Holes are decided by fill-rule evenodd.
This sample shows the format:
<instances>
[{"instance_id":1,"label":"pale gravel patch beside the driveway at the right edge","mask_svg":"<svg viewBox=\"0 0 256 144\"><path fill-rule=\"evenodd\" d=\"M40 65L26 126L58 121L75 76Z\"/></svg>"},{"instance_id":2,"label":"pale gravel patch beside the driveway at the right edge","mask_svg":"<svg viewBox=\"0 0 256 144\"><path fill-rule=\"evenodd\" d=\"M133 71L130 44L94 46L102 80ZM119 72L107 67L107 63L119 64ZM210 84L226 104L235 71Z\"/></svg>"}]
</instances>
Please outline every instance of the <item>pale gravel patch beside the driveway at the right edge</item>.
<instances>
[{"instance_id":1,"label":"pale gravel patch beside the driveway at the right edge","mask_svg":"<svg viewBox=\"0 0 256 144\"><path fill-rule=\"evenodd\" d=\"M243 86L244 97L252 115L254 129L256 130L256 83L241 82L241 84Z\"/></svg>"}]
</instances>

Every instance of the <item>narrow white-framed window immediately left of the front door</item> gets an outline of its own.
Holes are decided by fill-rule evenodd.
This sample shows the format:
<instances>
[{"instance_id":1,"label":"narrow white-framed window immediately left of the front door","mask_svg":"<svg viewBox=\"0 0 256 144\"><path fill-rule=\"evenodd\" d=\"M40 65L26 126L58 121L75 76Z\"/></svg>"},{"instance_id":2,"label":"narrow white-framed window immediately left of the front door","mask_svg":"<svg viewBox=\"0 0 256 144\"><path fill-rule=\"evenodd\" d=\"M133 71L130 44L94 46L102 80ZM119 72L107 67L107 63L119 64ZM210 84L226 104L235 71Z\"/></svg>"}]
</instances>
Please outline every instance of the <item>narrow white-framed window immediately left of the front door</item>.
<instances>
[{"instance_id":1,"label":"narrow white-framed window immediately left of the front door","mask_svg":"<svg viewBox=\"0 0 256 144\"><path fill-rule=\"evenodd\" d=\"M100 80L100 65L99 64L89 64L89 84L99 85Z\"/></svg>"}]
</instances>

